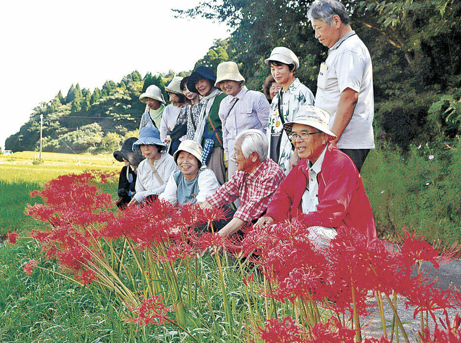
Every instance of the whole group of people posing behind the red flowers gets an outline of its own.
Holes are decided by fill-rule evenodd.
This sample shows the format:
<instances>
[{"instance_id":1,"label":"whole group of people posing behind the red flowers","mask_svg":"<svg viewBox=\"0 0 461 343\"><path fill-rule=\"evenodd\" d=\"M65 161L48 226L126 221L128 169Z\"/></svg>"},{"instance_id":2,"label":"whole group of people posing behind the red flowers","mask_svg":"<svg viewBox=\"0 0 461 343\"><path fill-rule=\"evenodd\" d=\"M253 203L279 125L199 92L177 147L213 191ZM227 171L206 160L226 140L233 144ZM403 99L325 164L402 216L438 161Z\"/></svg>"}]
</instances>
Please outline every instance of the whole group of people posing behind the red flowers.
<instances>
[{"instance_id":1,"label":"whole group of people posing behind the red flowers","mask_svg":"<svg viewBox=\"0 0 461 343\"><path fill-rule=\"evenodd\" d=\"M119 207L156 198L178 206L232 205L222 236L251 222L288 219L309 227L320 245L342 228L376 237L360 177L374 148L370 54L341 2L316 0L307 16L329 48L315 97L296 77L298 57L281 46L265 60L271 73L265 94L249 90L231 61L218 65L216 75L200 66L174 77L165 87L169 105L158 87L146 89L139 138L114 152L125 162Z\"/></svg>"}]
</instances>

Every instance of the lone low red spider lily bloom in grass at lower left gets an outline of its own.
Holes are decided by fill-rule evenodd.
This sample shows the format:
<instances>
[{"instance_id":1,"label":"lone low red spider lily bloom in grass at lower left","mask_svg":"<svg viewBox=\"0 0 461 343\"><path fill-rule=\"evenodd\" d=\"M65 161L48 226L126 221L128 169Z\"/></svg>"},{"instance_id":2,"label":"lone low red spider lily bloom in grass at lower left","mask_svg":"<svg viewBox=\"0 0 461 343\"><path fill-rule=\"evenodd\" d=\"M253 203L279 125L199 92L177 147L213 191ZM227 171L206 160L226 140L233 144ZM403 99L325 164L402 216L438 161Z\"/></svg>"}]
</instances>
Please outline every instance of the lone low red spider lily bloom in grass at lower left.
<instances>
[{"instance_id":1,"label":"lone low red spider lily bloom in grass at lower left","mask_svg":"<svg viewBox=\"0 0 461 343\"><path fill-rule=\"evenodd\" d=\"M125 321L139 326L168 323L171 321L168 319L168 312L175 310L173 307L163 305L162 296L143 299L140 307L127 306L127 308L133 313L133 316L125 318Z\"/></svg>"}]
</instances>

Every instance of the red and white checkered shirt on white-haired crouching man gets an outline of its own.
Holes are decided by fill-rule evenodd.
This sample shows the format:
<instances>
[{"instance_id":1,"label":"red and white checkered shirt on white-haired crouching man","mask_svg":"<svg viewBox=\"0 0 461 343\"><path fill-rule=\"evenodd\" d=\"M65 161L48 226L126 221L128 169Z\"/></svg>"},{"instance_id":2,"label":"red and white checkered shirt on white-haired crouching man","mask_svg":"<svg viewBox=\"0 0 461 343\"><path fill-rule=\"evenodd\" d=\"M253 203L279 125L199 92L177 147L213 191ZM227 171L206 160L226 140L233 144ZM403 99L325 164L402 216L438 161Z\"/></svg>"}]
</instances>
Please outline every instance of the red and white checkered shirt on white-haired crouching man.
<instances>
[{"instance_id":1,"label":"red and white checkered shirt on white-haired crouching man","mask_svg":"<svg viewBox=\"0 0 461 343\"><path fill-rule=\"evenodd\" d=\"M248 222L264 213L284 177L280 166L268 158L251 174L235 171L231 179L206 197L206 200L210 205L220 207L240 198L240 206L234 217Z\"/></svg>"}]
</instances>

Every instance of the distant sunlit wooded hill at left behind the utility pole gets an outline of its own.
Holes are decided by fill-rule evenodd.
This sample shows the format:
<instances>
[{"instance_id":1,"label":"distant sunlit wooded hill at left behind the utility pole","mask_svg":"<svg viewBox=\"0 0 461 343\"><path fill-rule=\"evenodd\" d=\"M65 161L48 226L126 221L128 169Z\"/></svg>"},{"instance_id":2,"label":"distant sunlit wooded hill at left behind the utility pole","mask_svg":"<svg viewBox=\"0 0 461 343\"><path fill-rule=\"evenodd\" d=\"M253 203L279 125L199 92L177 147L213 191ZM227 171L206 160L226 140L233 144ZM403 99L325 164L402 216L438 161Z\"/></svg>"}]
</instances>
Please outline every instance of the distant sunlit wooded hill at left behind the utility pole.
<instances>
[{"instance_id":1,"label":"distant sunlit wooded hill at left behind the utility pole","mask_svg":"<svg viewBox=\"0 0 461 343\"><path fill-rule=\"evenodd\" d=\"M120 82L106 81L101 89L95 88L93 92L80 89L78 83L72 85L66 96L59 91L54 99L34 108L29 121L6 139L5 148L37 150L42 114L43 151L113 151L127 132L139 127L145 108L139 95L151 84L163 89L162 76L148 73L143 78L133 71Z\"/></svg>"}]
</instances>

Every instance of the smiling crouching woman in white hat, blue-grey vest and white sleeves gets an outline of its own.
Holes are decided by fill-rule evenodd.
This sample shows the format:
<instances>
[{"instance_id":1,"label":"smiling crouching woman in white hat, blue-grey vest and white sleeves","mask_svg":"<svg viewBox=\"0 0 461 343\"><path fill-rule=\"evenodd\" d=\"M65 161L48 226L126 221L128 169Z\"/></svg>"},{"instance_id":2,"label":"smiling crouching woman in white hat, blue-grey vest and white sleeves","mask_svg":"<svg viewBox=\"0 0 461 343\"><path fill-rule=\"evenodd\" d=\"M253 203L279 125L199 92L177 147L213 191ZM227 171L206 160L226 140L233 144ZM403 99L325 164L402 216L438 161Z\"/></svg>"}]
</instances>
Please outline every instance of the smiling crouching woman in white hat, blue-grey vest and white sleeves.
<instances>
[{"instance_id":1,"label":"smiling crouching woman in white hat, blue-grey vest and white sleeves","mask_svg":"<svg viewBox=\"0 0 461 343\"><path fill-rule=\"evenodd\" d=\"M202 147L199 143L191 139L182 141L173 159L179 170L170 176L159 199L179 206L202 203L218 189L215 173L202 166Z\"/></svg>"}]
</instances>

